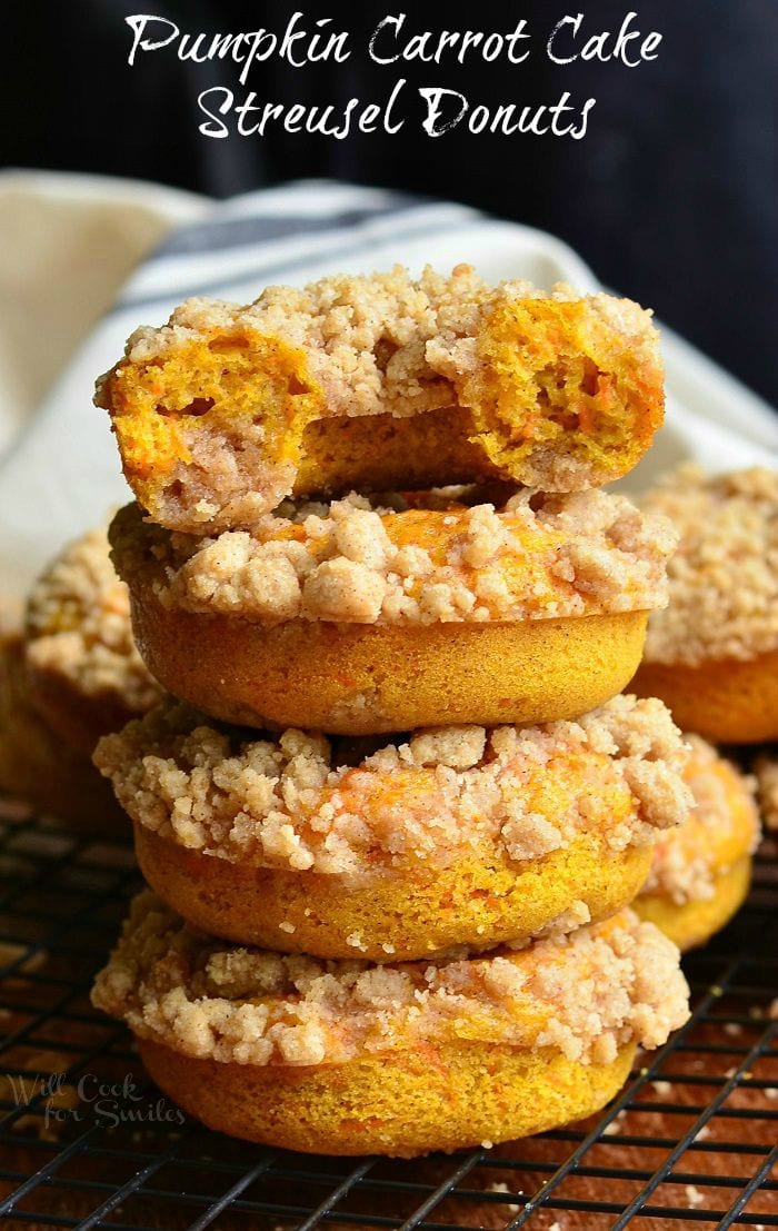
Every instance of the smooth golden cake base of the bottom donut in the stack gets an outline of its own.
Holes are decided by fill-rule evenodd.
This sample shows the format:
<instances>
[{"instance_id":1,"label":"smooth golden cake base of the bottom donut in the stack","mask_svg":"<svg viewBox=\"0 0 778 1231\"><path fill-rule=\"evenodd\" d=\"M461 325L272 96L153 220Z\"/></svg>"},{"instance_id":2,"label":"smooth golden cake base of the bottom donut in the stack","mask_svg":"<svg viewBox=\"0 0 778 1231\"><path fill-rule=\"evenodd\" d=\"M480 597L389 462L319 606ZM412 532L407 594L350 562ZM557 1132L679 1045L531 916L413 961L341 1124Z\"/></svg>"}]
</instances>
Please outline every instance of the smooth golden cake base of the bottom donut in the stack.
<instances>
[{"instance_id":1,"label":"smooth golden cake base of the bottom donut in the stack","mask_svg":"<svg viewBox=\"0 0 778 1231\"><path fill-rule=\"evenodd\" d=\"M160 1089L211 1129L303 1153L415 1158L512 1141L600 1112L635 1045L584 1065L553 1048L462 1041L305 1069L217 1064L139 1039Z\"/></svg>"}]
</instances>

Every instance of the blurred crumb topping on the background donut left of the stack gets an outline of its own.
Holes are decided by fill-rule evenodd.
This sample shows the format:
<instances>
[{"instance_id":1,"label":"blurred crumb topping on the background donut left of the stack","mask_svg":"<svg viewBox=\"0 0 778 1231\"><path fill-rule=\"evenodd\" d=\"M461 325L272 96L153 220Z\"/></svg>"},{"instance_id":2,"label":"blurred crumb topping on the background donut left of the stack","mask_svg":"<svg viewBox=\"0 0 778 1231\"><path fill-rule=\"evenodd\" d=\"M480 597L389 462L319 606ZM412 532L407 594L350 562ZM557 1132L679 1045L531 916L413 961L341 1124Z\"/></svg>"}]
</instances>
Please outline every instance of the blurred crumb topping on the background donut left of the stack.
<instances>
[{"instance_id":1,"label":"blurred crumb topping on the background donut left of the stack","mask_svg":"<svg viewBox=\"0 0 778 1231\"><path fill-rule=\"evenodd\" d=\"M105 529L69 544L34 583L25 640L31 667L64 677L87 697L114 697L138 714L160 698L133 641L129 595Z\"/></svg>"}]
</instances>

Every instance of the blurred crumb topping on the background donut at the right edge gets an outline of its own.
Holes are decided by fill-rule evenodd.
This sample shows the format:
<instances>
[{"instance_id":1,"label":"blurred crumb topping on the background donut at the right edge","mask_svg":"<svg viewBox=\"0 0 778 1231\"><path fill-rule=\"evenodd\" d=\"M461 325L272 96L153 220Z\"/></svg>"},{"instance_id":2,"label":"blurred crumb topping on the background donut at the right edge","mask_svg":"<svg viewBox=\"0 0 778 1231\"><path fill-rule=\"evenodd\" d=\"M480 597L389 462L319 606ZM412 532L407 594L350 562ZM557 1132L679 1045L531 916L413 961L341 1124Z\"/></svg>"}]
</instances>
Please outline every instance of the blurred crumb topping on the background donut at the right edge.
<instances>
[{"instance_id":1,"label":"blurred crumb topping on the background donut at the right edge","mask_svg":"<svg viewBox=\"0 0 778 1231\"><path fill-rule=\"evenodd\" d=\"M670 606L649 620L646 660L696 667L778 650L778 471L710 479L686 465L641 503L681 535Z\"/></svg>"}]
</instances>

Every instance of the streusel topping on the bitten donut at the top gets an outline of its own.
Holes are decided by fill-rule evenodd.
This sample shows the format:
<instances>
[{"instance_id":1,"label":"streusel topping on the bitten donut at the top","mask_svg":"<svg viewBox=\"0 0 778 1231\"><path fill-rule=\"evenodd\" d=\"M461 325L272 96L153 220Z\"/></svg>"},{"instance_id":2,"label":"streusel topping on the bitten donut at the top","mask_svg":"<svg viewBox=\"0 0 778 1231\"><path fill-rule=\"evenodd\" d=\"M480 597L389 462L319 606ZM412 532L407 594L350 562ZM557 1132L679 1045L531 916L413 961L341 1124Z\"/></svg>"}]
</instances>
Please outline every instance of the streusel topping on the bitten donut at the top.
<instances>
[{"instance_id":1,"label":"streusel topping on the bitten donut at the top","mask_svg":"<svg viewBox=\"0 0 778 1231\"><path fill-rule=\"evenodd\" d=\"M245 305L187 299L160 329L137 329L126 357L130 363L156 362L187 342L245 326L281 336L309 355L311 375L326 384L331 415L377 415L389 407L411 415L451 400L451 385L438 380L430 390L431 378L455 379L478 364L475 335L484 304L518 299L576 303L581 295L563 283L548 292L521 278L490 287L470 265L458 265L451 275L427 266L414 281L395 265L388 273L341 273L302 288L267 287ZM656 359L649 311L607 294L587 295L585 303L639 358ZM98 396L105 379L97 382Z\"/></svg>"}]
</instances>

